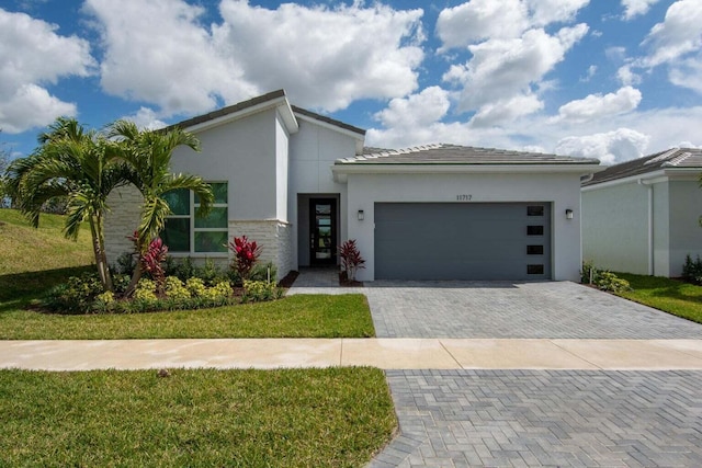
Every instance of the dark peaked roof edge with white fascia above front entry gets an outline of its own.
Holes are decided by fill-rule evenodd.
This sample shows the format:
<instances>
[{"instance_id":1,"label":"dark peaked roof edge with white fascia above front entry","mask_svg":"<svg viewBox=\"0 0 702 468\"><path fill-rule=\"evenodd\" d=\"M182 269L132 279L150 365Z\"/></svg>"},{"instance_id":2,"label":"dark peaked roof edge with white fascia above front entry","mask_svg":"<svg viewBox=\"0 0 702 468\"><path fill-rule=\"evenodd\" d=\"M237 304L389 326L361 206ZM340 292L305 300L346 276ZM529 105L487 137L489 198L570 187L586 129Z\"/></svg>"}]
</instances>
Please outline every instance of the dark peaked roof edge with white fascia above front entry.
<instances>
[{"instance_id":1,"label":"dark peaked roof edge with white fascia above front entry","mask_svg":"<svg viewBox=\"0 0 702 468\"><path fill-rule=\"evenodd\" d=\"M210 123L215 123L216 121L226 121L227 116L233 116L234 114L246 114L247 111L254 111L257 107L265 106L265 104L283 104L288 107L287 113L291 112L294 114L303 115L305 117L322 122L328 125L332 125L344 130L352 132L354 134L359 134L361 136L365 135L365 130L362 128L354 127L353 125L344 124L343 122L327 117L325 115L320 115L310 111L307 111L302 107L297 107L295 105L291 105L287 101L287 95L285 94L285 90L276 90L267 94L262 94L256 98L252 98L248 101L241 101L233 105L228 105L226 107L218 109L216 111L210 112L207 114L197 115L192 118L188 118L185 121L179 122L177 124L170 125L168 128L192 128L195 126L207 126ZM291 117L294 119L294 117ZM296 125L296 124L295 124Z\"/></svg>"}]
</instances>

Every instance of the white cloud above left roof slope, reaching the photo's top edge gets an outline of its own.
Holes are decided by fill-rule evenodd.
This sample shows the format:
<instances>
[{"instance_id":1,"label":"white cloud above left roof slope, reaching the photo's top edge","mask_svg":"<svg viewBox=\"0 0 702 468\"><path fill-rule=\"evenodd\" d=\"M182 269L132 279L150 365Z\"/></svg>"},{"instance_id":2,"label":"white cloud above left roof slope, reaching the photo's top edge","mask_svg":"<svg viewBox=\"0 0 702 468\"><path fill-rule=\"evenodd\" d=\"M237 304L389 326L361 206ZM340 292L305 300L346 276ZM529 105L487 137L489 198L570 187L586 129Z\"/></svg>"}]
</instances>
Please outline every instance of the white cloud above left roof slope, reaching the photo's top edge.
<instances>
[{"instance_id":1,"label":"white cloud above left roof slope, reaching the photo's top edge","mask_svg":"<svg viewBox=\"0 0 702 468\"><path fill-rule=\"evenodd\" d=\"M200 7L180 0L88 0L86 11L100 23L101 82L107 93L157 104L171 115L211 110L217 96L237 101L258 92L241 79L238 64L218 55L197 23Z\"/></svg>"}]
</instances>

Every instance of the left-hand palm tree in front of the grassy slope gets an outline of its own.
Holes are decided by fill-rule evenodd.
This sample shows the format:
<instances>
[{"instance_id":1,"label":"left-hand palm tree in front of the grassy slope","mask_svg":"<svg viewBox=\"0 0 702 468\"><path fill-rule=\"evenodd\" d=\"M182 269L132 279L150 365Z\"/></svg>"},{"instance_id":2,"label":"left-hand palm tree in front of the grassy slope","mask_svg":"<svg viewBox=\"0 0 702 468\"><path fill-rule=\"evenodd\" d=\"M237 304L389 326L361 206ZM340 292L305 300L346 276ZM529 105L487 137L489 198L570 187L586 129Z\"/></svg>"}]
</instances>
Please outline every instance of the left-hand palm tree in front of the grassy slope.
<instances>
[{"instance_id":1,"label":"left-hand palm tree in front of the grassy slope","mask_svg":"<svg viewBox=\"0 0 702 468\"><path fill-rule=\"evenodd\" d=\"M8 192L34 227L38 227L46 202L66 197L64 233L76 239L81 224L88 221L100 281L105 290L112 290L104 249L104 214L110 192L128 182L124 164L103 137L86 132L75 118L57 118L47 133L38 136L38 142L35 152L10 163Z\"/></svg>"}]
</instances>

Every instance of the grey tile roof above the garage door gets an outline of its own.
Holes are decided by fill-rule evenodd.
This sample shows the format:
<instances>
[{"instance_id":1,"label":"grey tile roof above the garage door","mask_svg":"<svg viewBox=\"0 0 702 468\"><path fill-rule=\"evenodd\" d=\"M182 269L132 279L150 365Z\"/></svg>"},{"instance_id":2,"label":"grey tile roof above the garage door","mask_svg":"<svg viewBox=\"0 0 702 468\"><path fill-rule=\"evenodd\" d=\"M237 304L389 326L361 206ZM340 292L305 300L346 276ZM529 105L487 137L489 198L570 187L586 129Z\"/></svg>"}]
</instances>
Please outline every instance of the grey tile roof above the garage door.
<instances>
[{"instance_id":1,"label":"grey tile roof above the garage door","mask_svg":"<svg viewBox=\"0 0 702 468\"><path fill-rule=\"evenodd\" d=\"M597 159L571 158L540 152L437 144L400 150L377 150L355 158L339 159L337 164L599 164Z\"/></svg>"}]
</instances>

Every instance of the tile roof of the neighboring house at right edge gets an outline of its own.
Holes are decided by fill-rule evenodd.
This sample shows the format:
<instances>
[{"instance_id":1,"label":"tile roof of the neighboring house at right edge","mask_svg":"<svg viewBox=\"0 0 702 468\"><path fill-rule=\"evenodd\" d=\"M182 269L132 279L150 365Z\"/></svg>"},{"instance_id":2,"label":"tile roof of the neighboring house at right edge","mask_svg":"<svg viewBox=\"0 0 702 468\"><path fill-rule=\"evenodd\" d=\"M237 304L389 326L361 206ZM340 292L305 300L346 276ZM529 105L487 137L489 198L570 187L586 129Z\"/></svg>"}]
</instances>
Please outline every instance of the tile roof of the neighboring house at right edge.
<instances>
[{"instance_id":1,"label":"tile roof of the neighboring house at right edge","mask_svg":"<svg viewBox=\"0 0 702 468\"><path fill-rule=\"evenodd\" d=\"M636 175L645 175L666 169L682 169L702 171L702 149L672 148L655 155L645 156L632 161L610 165L602 172L582 184L582 186L601 184L603 182L626 179Z\"/></svg>"}]
</instances>

